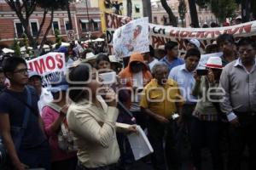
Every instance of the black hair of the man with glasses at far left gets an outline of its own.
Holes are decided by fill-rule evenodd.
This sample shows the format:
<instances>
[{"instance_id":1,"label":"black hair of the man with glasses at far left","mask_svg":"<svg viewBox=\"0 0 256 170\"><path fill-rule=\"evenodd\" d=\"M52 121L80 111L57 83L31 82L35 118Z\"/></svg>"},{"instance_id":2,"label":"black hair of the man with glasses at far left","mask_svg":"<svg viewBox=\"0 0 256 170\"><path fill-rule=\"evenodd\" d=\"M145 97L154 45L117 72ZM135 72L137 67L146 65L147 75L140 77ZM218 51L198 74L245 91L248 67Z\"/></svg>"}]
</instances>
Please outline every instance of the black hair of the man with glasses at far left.
<instances>
[{"instance_id":1,"label":"black hair of the man with glasses at far left","mask_svg":"<svg viewBox=\"0 0 256 170\"><path fill-rule=\"evenodd\" d=\"M2 68L6 77L7 72L14 72L18 65L26 65L26 60L21 57L9 57L3 60Z\"/></svg>"}]
</instances>

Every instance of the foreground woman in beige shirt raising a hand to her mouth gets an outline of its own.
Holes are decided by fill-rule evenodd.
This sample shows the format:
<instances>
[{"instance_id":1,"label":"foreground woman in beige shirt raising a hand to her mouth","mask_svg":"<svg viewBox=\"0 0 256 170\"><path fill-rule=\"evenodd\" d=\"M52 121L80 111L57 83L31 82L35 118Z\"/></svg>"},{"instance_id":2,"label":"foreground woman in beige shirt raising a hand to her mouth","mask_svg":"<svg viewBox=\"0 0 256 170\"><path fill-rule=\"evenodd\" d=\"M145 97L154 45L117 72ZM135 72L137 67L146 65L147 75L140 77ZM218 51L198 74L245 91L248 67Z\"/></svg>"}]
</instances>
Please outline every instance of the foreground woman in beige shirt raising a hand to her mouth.
<instances>
[{"instance_id":1,"label":"foreground woman in beige shirt raising a hand to her mouth","mask_svg":"<svg viewBox=\"0 0 256 170\"><path fill-rule=\"evenodd\" d=\"M116 94L103 88L96 70L89 65L74 65L70 68L69 97L72 100L67 111L67 123L76 137L79 163L77 170L116 170L119 161L119 145L116 139ZM97 95L97 92L102 96ZM136 132L128 127L127 132Z\"/></svg>"}]
</instances>

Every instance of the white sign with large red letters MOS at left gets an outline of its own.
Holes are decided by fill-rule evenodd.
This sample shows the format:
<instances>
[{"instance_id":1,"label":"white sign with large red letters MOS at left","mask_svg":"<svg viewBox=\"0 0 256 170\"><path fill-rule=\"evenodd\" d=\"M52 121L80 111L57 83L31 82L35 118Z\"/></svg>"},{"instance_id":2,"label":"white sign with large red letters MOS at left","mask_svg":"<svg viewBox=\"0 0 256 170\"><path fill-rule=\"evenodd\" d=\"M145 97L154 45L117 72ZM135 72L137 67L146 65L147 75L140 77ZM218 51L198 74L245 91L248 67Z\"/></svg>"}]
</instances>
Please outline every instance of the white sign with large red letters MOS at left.
<instances>
[{"instance_id":1,"label":"white sign with large red letters MOS at left","mask_svg":"<svg viewBox=\"0 0 256 170\"><path fill-rule=\"evenodd\" d=\"M48 87L50 80L54 77L61 77L66 72L65 54L49 53L36 59L26 61L28 69L37 71L42 77L43 87Z\"/></svg>"}]
</instances>

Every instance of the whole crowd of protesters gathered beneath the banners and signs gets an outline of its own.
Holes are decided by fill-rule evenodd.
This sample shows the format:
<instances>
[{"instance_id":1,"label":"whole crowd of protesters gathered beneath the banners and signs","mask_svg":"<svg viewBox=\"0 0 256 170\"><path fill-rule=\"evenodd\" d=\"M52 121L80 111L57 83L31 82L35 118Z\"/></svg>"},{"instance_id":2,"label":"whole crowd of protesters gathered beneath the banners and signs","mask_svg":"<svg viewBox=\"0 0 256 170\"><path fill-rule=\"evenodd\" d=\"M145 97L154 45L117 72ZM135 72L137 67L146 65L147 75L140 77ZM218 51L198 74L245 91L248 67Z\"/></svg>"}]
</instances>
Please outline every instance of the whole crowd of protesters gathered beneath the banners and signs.
<instances>
[{"instance_id":1,"label":"whole crowd of protesters gathered beneath the banners and signs","mask_svg":"<svg viewBox=\"0 0 256 170\"><path fill-rule=\"evenodd\" d=\"M256 42L223 34L204 52L197 39L186 48L179 56L177 42L170 41L164 54L150 46L121 62L91 49L61 47L67 73L50 87L25 59L3 59L5 168L133 169L127 134L140 125L154 149L144 160L153 169L201 170L207 148L214 170L241 169L245 154L247 169L255 170ZM223 54L198 69L201 54L216 52ZM114 82L106 82L109 73Z\"/></svg>"}]
</instances>

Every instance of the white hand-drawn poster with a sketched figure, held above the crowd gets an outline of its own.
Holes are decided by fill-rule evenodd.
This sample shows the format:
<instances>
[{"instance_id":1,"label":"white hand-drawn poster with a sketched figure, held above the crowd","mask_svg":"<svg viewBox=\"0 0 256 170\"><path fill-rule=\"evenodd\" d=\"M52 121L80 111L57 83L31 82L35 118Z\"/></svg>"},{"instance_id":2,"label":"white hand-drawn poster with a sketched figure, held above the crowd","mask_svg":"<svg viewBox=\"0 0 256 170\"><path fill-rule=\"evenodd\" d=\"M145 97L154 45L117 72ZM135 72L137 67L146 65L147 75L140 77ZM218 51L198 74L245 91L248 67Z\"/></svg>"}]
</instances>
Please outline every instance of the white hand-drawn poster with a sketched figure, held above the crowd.
<instances>
[{"instance_id":1,"label":"white hand-drawn poster with a sketched figure, held above the crowd","mask_svg":"<svg viewBox=\"0 0 256 170\"><path fill-rule=\"evenodd\" d=\"M132 20L113 34L113 54L128 57L133 53L149 51L148 17Z\"/></svg>"}]
</instances>

